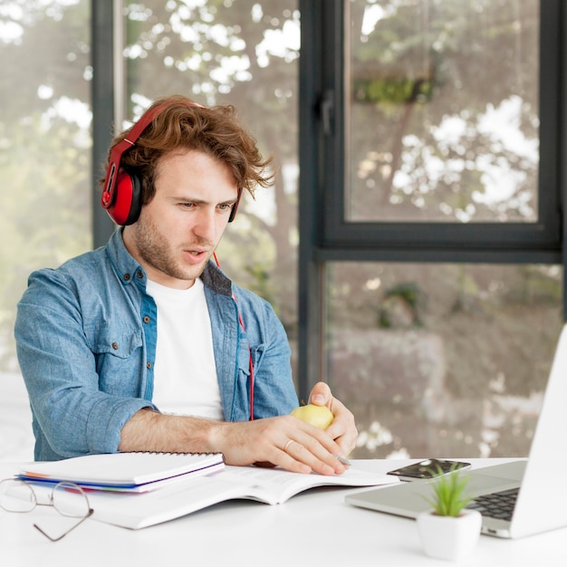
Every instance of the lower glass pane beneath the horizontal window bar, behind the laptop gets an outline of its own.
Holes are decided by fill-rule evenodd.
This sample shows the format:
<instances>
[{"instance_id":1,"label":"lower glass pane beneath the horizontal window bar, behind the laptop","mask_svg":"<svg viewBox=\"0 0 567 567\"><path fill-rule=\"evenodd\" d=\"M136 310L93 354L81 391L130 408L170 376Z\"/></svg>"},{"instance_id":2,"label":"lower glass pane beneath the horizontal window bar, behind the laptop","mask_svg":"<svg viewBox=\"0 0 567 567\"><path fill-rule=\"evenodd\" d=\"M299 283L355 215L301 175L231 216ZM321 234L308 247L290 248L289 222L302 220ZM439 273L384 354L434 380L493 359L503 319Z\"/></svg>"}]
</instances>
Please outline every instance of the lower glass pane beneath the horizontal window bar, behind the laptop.
<instances>
[{"instance_id":1,"label":"lower glass pane beneath the horizontal window bar, behind the laptop","mask_svg":"<svg viewBox=\"0 0 567 567\"><path fill-rule=\"evenodd\" d=\"M562 328L562 268L335 263L328 377L354 456L526 456Z\"/></svg>"}]
</instances>

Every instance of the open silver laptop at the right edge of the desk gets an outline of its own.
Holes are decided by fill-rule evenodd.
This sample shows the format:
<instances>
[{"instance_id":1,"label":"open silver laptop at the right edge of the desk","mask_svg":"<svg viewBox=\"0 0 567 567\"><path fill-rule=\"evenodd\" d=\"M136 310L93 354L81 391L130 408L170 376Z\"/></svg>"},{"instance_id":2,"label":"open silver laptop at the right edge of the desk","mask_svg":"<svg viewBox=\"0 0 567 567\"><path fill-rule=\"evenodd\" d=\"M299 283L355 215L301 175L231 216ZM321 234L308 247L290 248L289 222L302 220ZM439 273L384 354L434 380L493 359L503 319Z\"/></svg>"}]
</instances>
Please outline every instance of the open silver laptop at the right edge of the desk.
<instances>
[{"instance_id":1,"label":"open silver laptop at the right edge of the desk","mask_svg":"<svg viewBox=\"0 0 567 567\"><path fill-rule=\"evenodd\" d=\"M483 514L482 533L520 538L567 526L567 325L563 326L537 427L526 459L473 469L468 495L482 500L502 494L515 498L507 516L473 505ZM415 480L347 495L347 504L416 518L430 508L430 480Z\"/></svg>"}]
</instances>

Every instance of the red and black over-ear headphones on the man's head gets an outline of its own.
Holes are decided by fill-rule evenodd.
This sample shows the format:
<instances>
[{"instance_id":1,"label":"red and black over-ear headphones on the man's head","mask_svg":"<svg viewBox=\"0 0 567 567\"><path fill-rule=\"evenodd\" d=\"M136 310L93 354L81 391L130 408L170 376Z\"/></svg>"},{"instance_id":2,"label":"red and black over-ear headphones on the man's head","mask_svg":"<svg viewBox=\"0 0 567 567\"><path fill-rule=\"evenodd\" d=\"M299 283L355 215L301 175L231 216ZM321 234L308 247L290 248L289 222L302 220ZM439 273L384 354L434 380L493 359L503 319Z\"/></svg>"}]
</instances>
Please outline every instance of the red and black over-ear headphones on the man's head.
<instances>
[{"instance_id":1,"label":"red and black over-ear headphones on the man's head","mask_svg":"<svg viewBox=\"0 0 567 567\"><path fill-rule=\"evenodd\" d=\"M127 137L120 141L111 151L109 167L104 179L102 190L101 205L106 209L111 219L120 226L132 225L138 220L141 211L141 180L136 175L130 175L120 168L122 154L130 149L141 136L142 132L148 128L156 116L170 106L161 104L145 112L136 122ZM200 106L200 104L189 104L187 106ZM235 205L230 211L228 222L235 220L236 209L242 196L242 187L238 187L238 197Z\"/></svg>"}]
</instances>

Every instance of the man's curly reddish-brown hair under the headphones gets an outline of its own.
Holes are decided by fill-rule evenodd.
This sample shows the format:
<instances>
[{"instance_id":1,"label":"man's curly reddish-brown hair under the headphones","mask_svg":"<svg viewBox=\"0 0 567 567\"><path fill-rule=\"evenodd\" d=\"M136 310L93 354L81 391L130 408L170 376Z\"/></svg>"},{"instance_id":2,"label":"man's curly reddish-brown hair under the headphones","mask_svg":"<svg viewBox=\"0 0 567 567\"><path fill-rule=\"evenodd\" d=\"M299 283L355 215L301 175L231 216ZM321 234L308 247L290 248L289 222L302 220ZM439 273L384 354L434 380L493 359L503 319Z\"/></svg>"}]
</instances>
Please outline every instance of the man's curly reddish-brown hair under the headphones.
<instances>
[{"instance_id":1,"label":"man's curly reddish-brown hair under the headphones","mask_svg":"<svg viewBox=\"0 0 567 567\"><path fill-rule=\"evenodd\" d=\"M205 107L185 96L172 95L157 99L148 110L157 107L163 109L120 159L120 168L141 180L142 205L147 205L156 193L159 159L179 150L202 151L224 163L232 171L236 186L246 189L252 197L258 185L268 187L272 183L272 157L264 159L260 155L255 138L236 119L234 106ZM109 160L112 149L129 132L125 130L112 140Z\"/></svg>"}]
</instances>

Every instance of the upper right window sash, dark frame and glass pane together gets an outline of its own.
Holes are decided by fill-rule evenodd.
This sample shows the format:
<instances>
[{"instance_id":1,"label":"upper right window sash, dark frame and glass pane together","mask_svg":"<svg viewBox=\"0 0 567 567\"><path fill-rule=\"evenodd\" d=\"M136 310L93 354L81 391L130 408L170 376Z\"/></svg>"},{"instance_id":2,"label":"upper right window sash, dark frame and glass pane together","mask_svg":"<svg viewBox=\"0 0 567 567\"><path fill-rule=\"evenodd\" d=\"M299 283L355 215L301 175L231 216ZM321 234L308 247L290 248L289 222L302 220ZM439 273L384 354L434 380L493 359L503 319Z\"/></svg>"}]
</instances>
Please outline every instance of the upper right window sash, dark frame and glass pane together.
<instances>
[{"instance_id":1,"label":"upper right window sash, dark frame and glass pane together","mask_svg":"<svg viewBox=\"0 0 567 567\"><path fill-rule=\"evenodd\" d=\"M561 35L538 5L325 5L342 65L322 50L323 245L552 260Z\"/></svg>"}]
</instances>

